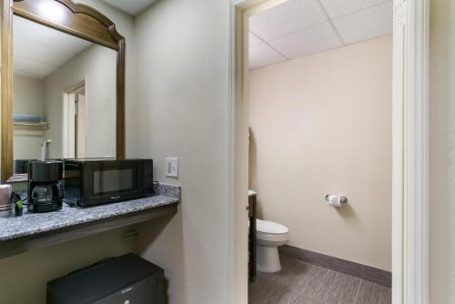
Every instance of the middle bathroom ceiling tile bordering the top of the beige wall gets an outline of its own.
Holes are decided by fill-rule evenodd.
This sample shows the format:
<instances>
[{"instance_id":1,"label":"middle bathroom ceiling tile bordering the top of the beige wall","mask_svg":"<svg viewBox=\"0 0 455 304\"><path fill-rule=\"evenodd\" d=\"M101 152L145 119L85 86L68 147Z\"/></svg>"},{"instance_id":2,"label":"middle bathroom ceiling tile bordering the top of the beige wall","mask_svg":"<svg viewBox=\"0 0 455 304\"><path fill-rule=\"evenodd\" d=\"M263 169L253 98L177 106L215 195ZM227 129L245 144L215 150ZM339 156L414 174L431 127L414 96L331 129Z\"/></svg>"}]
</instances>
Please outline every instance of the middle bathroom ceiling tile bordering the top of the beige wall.
<instances>
[{"instance_id":1,"label":"middle bathroom ceiling tile bordering the top of the beige wall","mask_svg":"<svg viewBox=\"0 0 455 304\"><path fill-rule=\"evenodd\" d=\"M297 58L341 46L329 23L316 25L268 42L284 56Z\"/></svg>"}]
</instances>

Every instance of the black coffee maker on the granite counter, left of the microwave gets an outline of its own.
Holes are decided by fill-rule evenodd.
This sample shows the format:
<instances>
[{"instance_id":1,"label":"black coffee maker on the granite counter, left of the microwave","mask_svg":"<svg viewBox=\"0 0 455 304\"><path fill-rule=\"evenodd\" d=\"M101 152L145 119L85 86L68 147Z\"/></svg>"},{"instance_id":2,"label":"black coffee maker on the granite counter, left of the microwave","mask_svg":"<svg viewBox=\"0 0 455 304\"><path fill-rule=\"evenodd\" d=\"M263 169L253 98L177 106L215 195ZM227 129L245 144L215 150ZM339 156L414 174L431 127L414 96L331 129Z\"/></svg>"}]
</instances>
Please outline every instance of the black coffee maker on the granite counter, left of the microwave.
<instances>
[{"instance_id":1,"label":"black coffee maker on the granite counter, left of the microwave","mask_svg":"<svg viewBox=\"0 0 455 304\"><path fill-rule=\"evenodd\" d=\"M62 161L32 161L28 163L28 211L44 213L62 208L64 188Z\"/></svg>"}]
</instances>

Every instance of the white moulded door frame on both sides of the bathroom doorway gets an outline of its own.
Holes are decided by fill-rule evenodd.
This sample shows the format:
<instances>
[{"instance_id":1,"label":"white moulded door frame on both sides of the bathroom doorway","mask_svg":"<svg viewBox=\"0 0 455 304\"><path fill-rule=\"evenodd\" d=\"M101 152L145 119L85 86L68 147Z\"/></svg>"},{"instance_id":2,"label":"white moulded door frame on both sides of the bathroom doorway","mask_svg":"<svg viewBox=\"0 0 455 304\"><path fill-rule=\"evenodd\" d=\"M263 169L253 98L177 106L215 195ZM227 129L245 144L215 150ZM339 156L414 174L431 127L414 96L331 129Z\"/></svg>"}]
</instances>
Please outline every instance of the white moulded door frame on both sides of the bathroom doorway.
<instances>
[{"instance_id":1,"label":"white moulded door frame on both sides of the bathroom doorway","mask_svg":"<svg viewBox=\"0 0 455 304\"><path fill-rule=\"evenodd\" d=\"M248 15L286 0L231 0L228 303L248 303ZM394 0L392 302L429 303L429 0Z\"/></svg>"}]
</instances>

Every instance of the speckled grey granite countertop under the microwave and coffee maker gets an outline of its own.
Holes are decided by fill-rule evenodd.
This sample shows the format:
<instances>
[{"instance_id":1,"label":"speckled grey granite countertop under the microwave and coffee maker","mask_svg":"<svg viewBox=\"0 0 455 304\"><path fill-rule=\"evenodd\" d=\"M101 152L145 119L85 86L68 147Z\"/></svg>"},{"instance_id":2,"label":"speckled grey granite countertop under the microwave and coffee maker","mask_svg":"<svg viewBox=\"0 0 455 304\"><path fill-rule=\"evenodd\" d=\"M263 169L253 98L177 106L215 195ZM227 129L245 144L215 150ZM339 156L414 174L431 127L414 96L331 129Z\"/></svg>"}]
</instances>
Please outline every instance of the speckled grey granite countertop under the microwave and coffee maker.
<instances>
[{"instance_id":1,"label":"speckled grey granite countertop under the microwave and coffee maker","mask_svg":"<svg viewBox=\"0 0 455 304\"><path fill-rule=\"evenodd\" d=\"M74 208L64 203L64 207L55 212L24 211L21 217L0 218L0 242L177 204L181 199L181 190L178 186L159 184L155 188L155 193L156 195L150 198L127 200L91 208Z\"/></svg>"}]
</instances>

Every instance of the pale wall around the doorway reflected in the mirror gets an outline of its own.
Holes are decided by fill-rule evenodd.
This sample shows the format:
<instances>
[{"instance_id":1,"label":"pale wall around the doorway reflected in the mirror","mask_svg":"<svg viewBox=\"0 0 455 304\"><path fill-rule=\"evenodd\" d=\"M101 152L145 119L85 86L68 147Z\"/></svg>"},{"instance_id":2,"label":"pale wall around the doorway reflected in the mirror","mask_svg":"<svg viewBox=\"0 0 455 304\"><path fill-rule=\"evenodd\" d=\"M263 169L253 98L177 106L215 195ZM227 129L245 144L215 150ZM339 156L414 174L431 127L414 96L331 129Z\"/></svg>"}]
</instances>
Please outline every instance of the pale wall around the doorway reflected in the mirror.
<instances>
[{"instance_id":1,"label":"pale wall around the doorway reflected in the mirror","mask_svg":"<svg viewBox=\"0 0 455 304\"><path fill-rule=\"evenodd\" d=\"M45 78L49 156L63 157L64 92L82 81L86 81L86 157L116 157L116 51L97 45Z\"/></svg>"}]
</instances>

